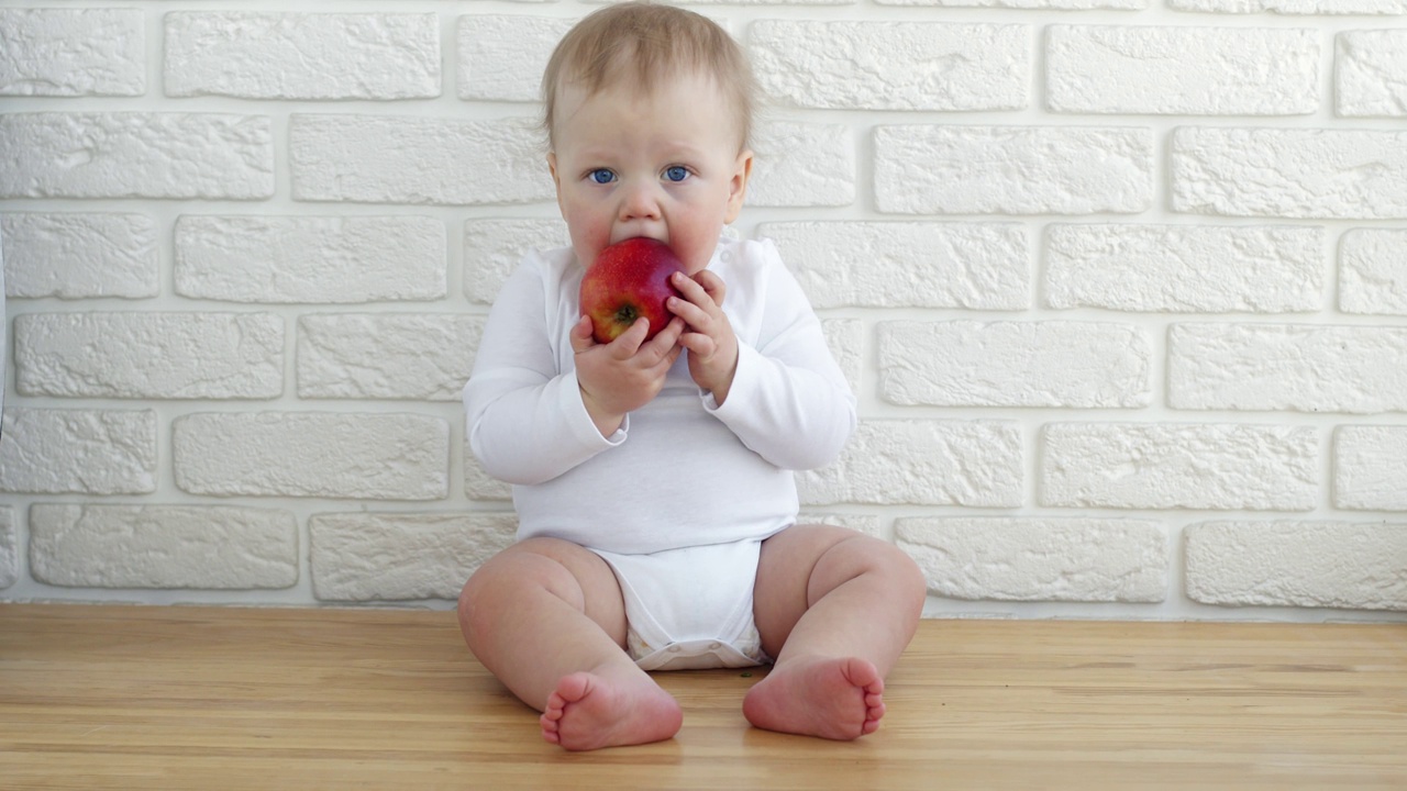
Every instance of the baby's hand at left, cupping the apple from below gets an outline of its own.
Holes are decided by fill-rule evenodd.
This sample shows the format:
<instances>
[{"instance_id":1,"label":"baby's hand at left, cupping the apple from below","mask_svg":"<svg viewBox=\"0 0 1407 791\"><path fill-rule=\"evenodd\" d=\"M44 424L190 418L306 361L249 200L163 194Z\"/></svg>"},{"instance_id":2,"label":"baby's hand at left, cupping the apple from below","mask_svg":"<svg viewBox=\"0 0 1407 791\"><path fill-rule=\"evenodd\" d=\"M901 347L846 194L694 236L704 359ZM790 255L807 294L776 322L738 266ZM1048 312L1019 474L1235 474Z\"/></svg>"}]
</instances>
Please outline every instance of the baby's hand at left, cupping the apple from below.
<instances>
[{"instance_id":1,"label":"baby's hand at left, cupping the apple from below","mask_svg":"<svg viewBox=\"0 0 1407 791\"><path fill-rule=\"evenodd\" d=\"M649 319L636 319L630 329L609 343L597 343L591 336L590 317L581 317L571 328L581 401L601 436L615 434L628 412L658 396L670 366L684 350L678 345L680 334L684 332L682 319L670 319L646 343L649 324Z\"/></svg>"}]
</instances>

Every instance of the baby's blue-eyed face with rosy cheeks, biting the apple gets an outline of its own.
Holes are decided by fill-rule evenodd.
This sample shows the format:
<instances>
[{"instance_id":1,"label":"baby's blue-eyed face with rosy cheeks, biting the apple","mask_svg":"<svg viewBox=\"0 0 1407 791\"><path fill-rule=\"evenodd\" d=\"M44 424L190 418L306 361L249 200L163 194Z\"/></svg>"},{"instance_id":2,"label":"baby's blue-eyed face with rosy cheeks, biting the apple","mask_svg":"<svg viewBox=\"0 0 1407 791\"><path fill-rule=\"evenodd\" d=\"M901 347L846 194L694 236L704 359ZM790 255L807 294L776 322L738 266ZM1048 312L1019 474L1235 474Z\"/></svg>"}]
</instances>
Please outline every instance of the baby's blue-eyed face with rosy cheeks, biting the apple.
<instances>
[{"instance_id":1,"label":"baby's blue-eyed face with rosy cheeks, biting the apple","mask_svg":"<svg viewBox=\"0 0 1407 791\"><path fill-rule=\"evenodd\" d=\"M689 274L708 266L753 165L713 83L689 75L650 93L625 83L590 97L567 86L556 113L547 163L581 265L608 245L649 236L668 243Z\"/></svg>"}]
</instances>

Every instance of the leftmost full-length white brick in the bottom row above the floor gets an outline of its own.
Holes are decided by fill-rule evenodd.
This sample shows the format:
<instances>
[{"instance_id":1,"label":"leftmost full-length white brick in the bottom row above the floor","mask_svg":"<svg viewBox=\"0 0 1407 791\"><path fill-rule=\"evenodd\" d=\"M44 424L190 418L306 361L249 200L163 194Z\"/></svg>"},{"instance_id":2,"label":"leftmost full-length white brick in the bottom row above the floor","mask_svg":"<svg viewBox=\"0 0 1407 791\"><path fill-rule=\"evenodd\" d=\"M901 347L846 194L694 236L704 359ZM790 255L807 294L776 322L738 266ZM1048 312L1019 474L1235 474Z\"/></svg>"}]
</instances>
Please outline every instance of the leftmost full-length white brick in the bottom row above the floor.
<instances>
[{"instance_id":1,"label":"leftmost full-length white brick in the bottom row above the floor","mask_svg":"<svg viewBox=\"0 0 1407 791\"><path fill-rule=\"evenodd\" d=\"M37 504L30 569L68 587L288 588L298 581L298 519L221 505Z\"/></svg>"}]
</instances>

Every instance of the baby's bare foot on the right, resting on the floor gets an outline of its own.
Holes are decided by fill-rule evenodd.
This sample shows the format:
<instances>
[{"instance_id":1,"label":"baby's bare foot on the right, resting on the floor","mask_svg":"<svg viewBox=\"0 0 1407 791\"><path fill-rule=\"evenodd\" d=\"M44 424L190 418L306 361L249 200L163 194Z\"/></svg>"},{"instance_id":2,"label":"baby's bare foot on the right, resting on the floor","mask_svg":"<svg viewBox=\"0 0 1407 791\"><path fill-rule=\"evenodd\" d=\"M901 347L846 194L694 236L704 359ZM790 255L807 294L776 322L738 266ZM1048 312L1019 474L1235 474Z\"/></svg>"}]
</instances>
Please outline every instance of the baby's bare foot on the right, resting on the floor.
<instances>
[{"instance_id":1,"label":"baby's bare foot on the right, resting on the floor","mask_svg":"<svg viewBox=\"0 0 1407 791\"><path fill-rule=\"evenodd\" d=\"M758 681L743 715L767 730L850 740L879 729L884 678L862 659L801 659Z\"/></svg>"}]
</instances>

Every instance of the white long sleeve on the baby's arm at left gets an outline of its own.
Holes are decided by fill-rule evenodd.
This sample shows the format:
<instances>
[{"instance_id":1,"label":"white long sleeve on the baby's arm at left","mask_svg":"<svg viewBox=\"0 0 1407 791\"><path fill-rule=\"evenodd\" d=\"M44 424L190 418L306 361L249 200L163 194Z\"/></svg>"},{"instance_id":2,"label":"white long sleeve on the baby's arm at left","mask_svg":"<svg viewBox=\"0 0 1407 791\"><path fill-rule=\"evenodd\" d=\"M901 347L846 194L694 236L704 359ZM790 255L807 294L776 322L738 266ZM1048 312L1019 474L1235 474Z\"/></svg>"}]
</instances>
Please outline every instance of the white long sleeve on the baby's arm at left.
<instances>
[{"instance_id":1,"label":"white long sleeve on the baby's arm at left","mask_svg":"<svg viewBox=\"0 0 1407 791\"><path fill-rule=\"evenodd\" d=\"M581 403L575 370L561 365L574 319L560 315L556 297L570 286L560 280L570 277L566 272L545 266L536 253L525 259L494 301L464 386L470 449L488 474L508 483L552 480L625 436L601 436Z\"/></svg>"}]
</instances>

